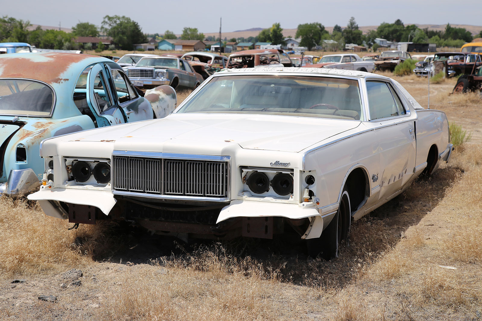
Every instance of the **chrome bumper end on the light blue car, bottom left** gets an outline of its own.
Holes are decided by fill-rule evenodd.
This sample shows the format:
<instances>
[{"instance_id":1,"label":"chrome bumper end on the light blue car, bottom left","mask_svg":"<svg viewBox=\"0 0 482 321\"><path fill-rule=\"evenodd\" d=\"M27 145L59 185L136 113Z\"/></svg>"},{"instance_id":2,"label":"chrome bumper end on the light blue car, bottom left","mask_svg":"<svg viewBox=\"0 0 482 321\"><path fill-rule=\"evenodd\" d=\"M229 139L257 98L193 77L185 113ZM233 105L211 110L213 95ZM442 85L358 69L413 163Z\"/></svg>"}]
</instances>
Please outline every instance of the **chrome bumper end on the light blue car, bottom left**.
<instances>
[{"instance_id":1,"label":"chrome bumper end on the light blue car, bottom left","mask_svg":"<svg viewBox=\"0 0 482 321\"><path fill-rule=\"evenodd\" d=\"M40 186L40 180L32 168L12 169L8 180L0 184L0 196L18 197L32 193Z\"/></svg>"}]
</instances>

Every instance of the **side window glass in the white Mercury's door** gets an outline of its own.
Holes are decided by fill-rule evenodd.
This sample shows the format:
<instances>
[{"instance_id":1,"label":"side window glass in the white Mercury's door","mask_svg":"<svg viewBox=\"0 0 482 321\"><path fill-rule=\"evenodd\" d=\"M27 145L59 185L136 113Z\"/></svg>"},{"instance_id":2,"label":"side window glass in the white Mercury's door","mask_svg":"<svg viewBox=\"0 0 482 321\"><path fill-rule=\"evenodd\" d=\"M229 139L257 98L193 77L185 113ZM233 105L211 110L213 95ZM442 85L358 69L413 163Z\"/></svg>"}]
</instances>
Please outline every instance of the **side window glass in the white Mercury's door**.
<instances>
[{"instance_id":1,"label":"side window glass in the white Mercury's door","mask_svg":"<svg viewBox=\"0 0 482 321\"><path fill-rule=\"evenodd\" d=\"M395 90L386 82L366 82L370 118L379 119L405 114Z\"/></svg>"}]
</instances>

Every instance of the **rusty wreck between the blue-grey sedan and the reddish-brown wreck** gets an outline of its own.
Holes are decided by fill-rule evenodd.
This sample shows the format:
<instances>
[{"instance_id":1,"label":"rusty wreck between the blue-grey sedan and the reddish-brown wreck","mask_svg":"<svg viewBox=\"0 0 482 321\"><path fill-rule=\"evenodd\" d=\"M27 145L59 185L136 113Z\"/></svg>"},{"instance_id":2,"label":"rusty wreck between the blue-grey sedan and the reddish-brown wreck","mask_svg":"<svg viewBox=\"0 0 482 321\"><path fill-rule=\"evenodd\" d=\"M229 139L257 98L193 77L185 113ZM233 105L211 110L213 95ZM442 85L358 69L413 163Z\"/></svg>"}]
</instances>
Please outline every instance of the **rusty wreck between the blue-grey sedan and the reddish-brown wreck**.
<instances>
[{"instance_id":1,"label":"rusty wreck between the blue-grey sedan and the reddish-brown wreck","mask_svg":"<svg viewBox=\"0 0 482 321\"><path fill-rule=\"evenodd\" d=\"M204 79L226 68L228 57L212 52L191 51L182 55L181 59L187 60L195 72Z\"/></svg>"}]
</instances>

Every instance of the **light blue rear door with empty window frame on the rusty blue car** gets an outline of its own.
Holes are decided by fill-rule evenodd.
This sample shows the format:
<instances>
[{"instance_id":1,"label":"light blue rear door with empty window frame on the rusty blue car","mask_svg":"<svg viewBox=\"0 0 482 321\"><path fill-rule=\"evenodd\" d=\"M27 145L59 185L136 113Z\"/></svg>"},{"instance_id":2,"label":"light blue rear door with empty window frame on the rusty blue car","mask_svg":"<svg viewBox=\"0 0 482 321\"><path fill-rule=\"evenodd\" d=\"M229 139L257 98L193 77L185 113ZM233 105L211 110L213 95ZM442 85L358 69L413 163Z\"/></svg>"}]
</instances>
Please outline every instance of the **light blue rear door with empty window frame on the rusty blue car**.
<instances>
[{"instance_id":1,"label":"light blue rear door with empty window frame on the rusty blue car","mask_svg":"<svg viewBox=\"0 0 482 321\"><path fill-rule=\"evenodd\" d=\"M115 103L107 82L107 69L94 64L87 74L87 103L94 111L98 127L125 122L122 110Z\"/></svg>"}]
</instances>

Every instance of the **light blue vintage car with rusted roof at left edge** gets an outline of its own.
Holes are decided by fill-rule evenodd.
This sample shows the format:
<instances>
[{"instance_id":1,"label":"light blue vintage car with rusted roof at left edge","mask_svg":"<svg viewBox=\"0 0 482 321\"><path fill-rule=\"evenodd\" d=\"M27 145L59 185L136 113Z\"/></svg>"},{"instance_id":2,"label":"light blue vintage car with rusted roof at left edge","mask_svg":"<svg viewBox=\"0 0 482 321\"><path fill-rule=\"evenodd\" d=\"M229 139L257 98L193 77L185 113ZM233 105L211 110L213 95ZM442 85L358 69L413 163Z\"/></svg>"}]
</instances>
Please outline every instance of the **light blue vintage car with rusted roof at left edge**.
<instances>
[{"instance_id":1,"label":"light blue vintage car with rusted roof at left edge","mask_svg":"<svg viewBox=\"0 0 482 321\"><path fill-rule=\"evenodd\" d=\"M107 58L54 52L0 55L0 195L15 197L39 186L48 165L40 158L40 141L161 118L175 107L172 87L144 94Z\"/></svg>"}]
</instances>

